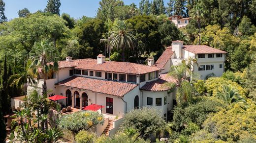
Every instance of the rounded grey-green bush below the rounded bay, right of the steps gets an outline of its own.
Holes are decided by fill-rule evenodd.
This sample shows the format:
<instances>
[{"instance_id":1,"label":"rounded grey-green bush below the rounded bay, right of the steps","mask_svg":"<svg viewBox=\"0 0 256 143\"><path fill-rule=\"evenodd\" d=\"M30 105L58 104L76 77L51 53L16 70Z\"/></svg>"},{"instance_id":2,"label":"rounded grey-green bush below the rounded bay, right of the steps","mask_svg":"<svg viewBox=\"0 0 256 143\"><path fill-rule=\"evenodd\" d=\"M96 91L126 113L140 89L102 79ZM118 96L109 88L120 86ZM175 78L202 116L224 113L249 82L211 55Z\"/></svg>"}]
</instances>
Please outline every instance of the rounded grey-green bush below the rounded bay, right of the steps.
<instances>
[{"instance_id":1,"label":"rounded grey-green bush below the rounded bay, right of the steps","mask_svg":"<svg viewBox=\"0 0 256 143\"><path fill-rule=\"evenodd\" d=\"M121 128L124 130L133 127L138 130L141 137L160 132L166 125L160 113L155 108L147 107L132 110L126 114Z\"/></svg>"}]
</instances>

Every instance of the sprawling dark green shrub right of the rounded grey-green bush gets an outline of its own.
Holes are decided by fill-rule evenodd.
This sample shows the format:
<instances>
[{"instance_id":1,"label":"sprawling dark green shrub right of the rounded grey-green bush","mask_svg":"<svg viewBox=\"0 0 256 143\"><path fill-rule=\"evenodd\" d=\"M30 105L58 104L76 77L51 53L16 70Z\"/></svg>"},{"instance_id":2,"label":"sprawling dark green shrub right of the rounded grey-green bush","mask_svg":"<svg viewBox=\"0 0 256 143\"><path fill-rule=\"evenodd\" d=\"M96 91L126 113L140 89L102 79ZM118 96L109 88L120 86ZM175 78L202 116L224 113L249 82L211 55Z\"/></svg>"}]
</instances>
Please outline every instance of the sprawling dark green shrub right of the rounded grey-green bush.
<instances>
[{"instance_id":1,"label":"sprawling dark green shrub right of the rounded grey-green bush","mask_svg":"<svg viewBox=\"0 0 256 143\"><path fill-rule=\"evenodd\" d=\"M198 97L195 103L189 104L186 107L176 106L174 108L173 127L177 131L181 131L186 129L191 122L201 127L209 113L216 113L222 108L225 108L225 104L217 98Z\"/></svg>"}]
</instances>

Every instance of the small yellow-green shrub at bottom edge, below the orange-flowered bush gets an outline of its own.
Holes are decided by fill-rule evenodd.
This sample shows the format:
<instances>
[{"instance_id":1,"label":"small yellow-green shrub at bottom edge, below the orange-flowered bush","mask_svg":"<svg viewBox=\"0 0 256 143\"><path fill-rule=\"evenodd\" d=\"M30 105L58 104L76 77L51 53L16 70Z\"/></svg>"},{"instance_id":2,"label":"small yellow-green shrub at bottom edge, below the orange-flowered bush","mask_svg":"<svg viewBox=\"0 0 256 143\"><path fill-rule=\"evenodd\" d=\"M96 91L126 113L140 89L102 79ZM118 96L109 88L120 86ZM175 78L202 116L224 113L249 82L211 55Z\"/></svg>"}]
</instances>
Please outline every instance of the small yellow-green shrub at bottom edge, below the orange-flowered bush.
<instances>
[{"instance_id":1,"label":"small yellow-green shrub at bottom edge, below the orange-flowered bush","mask_svg":"<svg viewBox=\"0 0 256 143\"><path fill-rule=\"evenodd\" d=\"M93 143L93 139L95 137L95 134L88 133L85 130L81 130L78 134L75 135L75 141L76 143Z\"/></svg>"}]
</instances>

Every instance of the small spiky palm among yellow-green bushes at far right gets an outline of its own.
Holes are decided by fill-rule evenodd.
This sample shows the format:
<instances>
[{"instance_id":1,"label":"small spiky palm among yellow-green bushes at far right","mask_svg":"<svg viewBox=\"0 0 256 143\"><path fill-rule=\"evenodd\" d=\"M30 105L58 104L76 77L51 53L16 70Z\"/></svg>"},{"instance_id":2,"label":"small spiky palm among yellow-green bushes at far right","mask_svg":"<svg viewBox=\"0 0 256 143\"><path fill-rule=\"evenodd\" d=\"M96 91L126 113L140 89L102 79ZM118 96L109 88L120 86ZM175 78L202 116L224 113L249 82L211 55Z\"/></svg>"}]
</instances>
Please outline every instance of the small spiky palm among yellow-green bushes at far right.
<instances>
[{"instance_id":1,"label":"small spiky palm among yellow-green bushes at far right","mask_svg":"<svg viewBox=\"0 0 256 143\"><path fill-rule=\"evenodd\" d=\"M223 85L223 90L217 92L218 98L222 99L227 104L233 102L246 102L244 97L239 95L237 90L230 85Z\"/></svg>"}]
</instances>

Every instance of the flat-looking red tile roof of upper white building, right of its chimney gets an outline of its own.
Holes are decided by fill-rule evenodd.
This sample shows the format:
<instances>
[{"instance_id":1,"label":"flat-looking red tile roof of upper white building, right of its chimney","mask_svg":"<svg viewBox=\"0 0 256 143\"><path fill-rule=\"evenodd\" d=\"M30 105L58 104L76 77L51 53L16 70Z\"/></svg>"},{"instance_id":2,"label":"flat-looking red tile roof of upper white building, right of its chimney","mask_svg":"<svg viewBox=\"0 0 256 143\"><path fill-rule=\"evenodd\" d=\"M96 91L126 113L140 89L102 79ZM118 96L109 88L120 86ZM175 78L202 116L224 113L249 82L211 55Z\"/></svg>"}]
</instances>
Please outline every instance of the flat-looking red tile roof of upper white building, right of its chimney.
<instances>
[{"instance_id":1,"label":"flat-looking red tile roof of upper white building, right of its chimney","mask_svg":"<svg viewBox=\"0 0 256 143\"><path fill-rule=\"evenodd\" d=\"M212 48L206 45L184 45L183 49L190 51L194 54L204 54L204 53L226 53L223 50Z\"/></svg>"}]
</instances>

